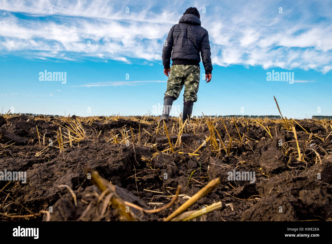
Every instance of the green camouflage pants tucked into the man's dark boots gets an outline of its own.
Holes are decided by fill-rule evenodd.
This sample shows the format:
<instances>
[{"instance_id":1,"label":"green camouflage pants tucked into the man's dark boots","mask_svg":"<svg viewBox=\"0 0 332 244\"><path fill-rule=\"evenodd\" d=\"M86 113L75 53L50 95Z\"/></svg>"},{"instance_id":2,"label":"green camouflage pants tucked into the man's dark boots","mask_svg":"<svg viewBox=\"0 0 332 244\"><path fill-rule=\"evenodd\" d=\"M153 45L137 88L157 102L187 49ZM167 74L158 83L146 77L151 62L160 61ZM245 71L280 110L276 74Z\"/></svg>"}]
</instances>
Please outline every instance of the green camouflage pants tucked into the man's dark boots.
<instances>
[{"instance_id":1,"label":"green camouflage pants tucked into the man's dark boots","mask_svg":"<svg viewBox=\"0 0 332 244\"><path fill-rule=\"evenodd\" d=\"M185 86L183 101L197 102L197 92L200 84L200 66L176 64L172 65L170 70L164 98L172 97L174 100L178 99L183 86Z\"/></svg>"}]
</instances>

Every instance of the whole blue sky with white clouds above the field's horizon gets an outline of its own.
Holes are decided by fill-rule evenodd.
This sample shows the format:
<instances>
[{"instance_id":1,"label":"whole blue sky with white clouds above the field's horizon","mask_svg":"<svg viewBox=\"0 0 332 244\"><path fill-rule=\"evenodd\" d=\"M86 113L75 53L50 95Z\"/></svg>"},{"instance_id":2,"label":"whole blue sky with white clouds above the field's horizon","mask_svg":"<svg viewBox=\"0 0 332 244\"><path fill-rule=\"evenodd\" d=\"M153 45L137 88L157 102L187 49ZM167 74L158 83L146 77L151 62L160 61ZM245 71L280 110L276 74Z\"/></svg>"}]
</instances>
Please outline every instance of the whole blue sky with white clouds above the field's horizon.
<instances>
[{"instance_id":1,"label":"whole blue sky with white clouds above the field's horizon","mask_svg":"<svg viewBox=\"0 0 332 244\"><path fill-rule=\"evenodd\" d=\"M190 6L213 64L194 115L277 115L273 96L288 118L332 115L329 1L0 0L0 110L160 115L163 42ZM66 72L66 83L40 80L44 70ZM272 70L294 72L293 82L267 81Z\"/></svg>"}]
</instances>

